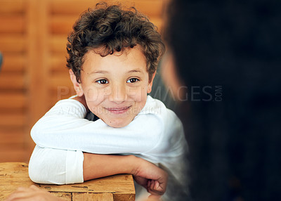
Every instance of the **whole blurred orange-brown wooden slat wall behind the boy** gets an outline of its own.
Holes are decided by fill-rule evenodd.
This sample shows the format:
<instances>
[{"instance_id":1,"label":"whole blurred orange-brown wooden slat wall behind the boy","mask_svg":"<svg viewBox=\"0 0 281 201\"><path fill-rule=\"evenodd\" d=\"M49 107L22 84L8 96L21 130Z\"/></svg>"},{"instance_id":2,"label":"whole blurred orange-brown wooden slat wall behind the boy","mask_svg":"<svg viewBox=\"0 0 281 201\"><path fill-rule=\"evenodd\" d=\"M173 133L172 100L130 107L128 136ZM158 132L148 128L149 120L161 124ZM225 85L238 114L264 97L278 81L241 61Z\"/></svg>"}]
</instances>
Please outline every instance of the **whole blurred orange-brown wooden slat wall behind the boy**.
<instances>
[{"instance_id":1,"label":"whole blurred orange-brown wooden slat wall behind the boy","mask_svg":"<svg viewBox=\"0 0 281 201\"><path fill-rule=\"evenodd\" d=\"M135 6L161 29L163 1L118 2ZM0 0L0 162L28 162L32 125L58 100L74 95L65 65L67 34L79 14L98 2Z\"/></svg>"}]
</instances>

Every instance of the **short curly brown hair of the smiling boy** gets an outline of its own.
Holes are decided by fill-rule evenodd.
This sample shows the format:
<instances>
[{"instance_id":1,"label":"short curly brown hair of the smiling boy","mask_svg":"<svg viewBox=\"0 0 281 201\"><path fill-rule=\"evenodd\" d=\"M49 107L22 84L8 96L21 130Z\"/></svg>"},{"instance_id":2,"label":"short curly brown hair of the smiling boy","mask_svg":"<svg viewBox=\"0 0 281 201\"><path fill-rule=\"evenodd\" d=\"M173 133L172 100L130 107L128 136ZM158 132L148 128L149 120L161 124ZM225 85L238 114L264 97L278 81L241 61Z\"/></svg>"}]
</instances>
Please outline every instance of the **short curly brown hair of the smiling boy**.
<instances>
[{"instance_id":1,"label":"short curly brown hair of the smiling boy","mask_svg":"<svg viewBox=\"0 0 281 201\"><path fill-rule=\"evenodd\" d=\"M133 7L126 11L119 5L107 6L105 3L82 13L67 40L67 67L72 69L77 82L84 55L89 50L101 48L102 51L96 53L104 57L138 45L146 58L150 80L165 51L157 27L145 15Z\"/></svg>"}]
</instances>

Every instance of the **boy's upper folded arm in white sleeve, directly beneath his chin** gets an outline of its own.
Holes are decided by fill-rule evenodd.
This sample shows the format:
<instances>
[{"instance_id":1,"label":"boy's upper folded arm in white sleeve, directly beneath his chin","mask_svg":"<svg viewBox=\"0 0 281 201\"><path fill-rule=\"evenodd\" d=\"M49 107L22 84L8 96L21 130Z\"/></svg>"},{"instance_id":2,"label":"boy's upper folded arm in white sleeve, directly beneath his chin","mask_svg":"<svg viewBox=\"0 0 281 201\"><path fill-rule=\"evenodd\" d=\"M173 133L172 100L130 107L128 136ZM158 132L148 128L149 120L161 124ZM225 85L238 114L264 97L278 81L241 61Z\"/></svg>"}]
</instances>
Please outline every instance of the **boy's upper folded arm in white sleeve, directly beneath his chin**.
<instances>
[{"instance_id":1,"label":"boy's upper folded arm in white sleeve, directly beneath his chin","mask_svg":"<svg viewBox=\"0 0 281 201\"><path fill-rule=\"evenodd\" d=\"M34 125L32 138L45 148L82 150L87 153L145 153L162 134L156 115L138 115L123 128L107 126L101 119L84 119L86 108L77 100L60 100ZM140 129L141 127L141 129Z\"/></svg>"}]
</instances>

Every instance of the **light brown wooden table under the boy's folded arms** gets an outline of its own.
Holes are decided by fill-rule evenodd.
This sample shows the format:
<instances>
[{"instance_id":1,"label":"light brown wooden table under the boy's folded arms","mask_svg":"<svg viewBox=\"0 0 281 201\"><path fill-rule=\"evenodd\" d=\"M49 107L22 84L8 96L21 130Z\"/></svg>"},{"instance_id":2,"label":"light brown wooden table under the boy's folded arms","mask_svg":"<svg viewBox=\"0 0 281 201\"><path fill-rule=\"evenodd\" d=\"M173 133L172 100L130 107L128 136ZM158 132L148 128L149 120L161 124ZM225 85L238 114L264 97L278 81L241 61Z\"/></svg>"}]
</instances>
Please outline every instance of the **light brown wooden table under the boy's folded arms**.
<instances>
[{"instance_id":1,"label":"light brown wooden table under the boy's folded arms","mask_svg":"<svg viewBox=\"0 0 281 201\"><path fill-rule=\"evenodd\" d=\"M133 177L130 174L107 176L84 183L47 185L30 180L26 163L0 163L0 200L5 200L18 187L32 184L65 200L135 200Z\"/></svg>"}]
</instances>

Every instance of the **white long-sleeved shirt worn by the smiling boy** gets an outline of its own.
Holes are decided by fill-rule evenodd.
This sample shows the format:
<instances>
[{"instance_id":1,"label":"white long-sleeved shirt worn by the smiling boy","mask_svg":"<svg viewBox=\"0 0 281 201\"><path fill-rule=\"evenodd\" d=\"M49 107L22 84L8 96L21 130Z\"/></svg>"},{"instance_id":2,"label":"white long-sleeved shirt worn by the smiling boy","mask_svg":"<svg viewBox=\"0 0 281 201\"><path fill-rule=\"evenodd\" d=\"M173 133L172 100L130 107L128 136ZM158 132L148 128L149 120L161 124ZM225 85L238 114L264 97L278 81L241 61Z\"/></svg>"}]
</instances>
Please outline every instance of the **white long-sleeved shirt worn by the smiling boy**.
<instances>
[{"instance_id":1,"label":"white long-sleeved shirt worn by the smiling boy","mask_svg":"<svg viewBox=\"0 0 281 201\"><path fill-rule=\"evenodd\" d=\"M84 119L86 108L72 98L60 100L34 125L37 146L30 158L30 179L36 183L83 182L83 153L130 154L168 169L178 183L185 182L183 157L187 150L183 126L175 113L157 99L122 128L102 119Z\"/></svg>"}]
</instances>

